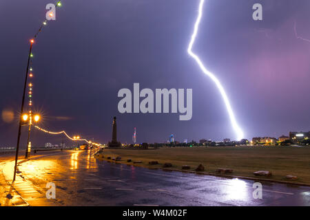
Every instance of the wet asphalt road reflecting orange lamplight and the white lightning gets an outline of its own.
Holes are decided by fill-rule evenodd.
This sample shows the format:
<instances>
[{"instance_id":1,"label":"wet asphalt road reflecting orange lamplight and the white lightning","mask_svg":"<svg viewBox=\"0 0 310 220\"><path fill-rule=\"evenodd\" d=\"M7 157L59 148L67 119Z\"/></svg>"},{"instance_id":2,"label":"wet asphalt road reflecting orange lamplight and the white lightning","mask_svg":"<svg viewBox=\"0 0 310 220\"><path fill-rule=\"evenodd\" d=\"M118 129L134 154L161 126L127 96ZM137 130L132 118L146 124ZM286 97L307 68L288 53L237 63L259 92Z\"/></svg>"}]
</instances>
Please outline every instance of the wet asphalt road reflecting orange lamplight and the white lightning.
<instances>
[{"instance_id":1,"label":"wet asphalt road reflecting orange lamplight and the white lightning","mask_svg":"<svg viewBox=\"0 0 310 220\"><path fill-rule=\"evenodd\" d=\"M310 187L153 170L95 159L91 151L64 151L31 159L21 174L41 192L56 185L55 206L310 206Z\"/></svg>"}]
</instances>

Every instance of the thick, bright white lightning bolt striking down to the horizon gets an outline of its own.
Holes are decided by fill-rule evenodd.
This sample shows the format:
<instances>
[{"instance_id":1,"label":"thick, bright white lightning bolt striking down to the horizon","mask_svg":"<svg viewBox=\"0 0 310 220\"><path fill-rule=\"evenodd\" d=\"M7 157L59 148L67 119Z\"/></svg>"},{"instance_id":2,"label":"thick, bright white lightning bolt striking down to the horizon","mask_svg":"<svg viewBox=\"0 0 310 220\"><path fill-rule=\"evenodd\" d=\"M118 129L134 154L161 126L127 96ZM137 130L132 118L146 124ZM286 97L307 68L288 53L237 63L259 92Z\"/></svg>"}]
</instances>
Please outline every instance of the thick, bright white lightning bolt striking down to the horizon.
<instances>
[{"instance_id":1,"label":"thick, bright white lightning bolt striking down to the horizon","mask_svg":"<svg viewBox=\"0 0 310 220\"><path fill-rule=\"evenodd\" d=\"M216 86L218 87L218 90L220 91L220 94L222 95L222 98L223 98L223 100L225 102L226 109L227 109L227 112L228 112L228 115L229 115L229 118L230 118L230 121L231 121L231 125L234 128L234 131L236 133L236 138L237 138L237 140L241 140L243 138L243 131L242 131L242 129L240 129L240 126L238 125L238 123L236 121L236 118L235 118L235 115L234 115L234 111L231 109L231 105L229 103L229 100L227 98L227 95L226 95L226 92L225 92L223 86L220 84L220 81L218 80L218 78L216 78L216 76L214 76L214 74L212 74L211 72L209 72L205 68L203 63L200 61L200 58L196 54L194 54L194 52L192 52L192 48L193 48L193 45L195 43L195 39L196 39L196 36L197 36L200 20L201 20L201 17L203 16L203 4L204 3L205 3L205 0L200 0L199 9L198 9L198 17L197 17L196 23L194 25L194 32L192 34L191 41L189 42L187 53L190 56L192 56L192 58L195 59L196 63L198 63L198 65L199 65L200 69L207 76L209 76L209 78L211 78L211 80L213 80L214 83L216 84Z\"/></svg>"}]
</instances>

